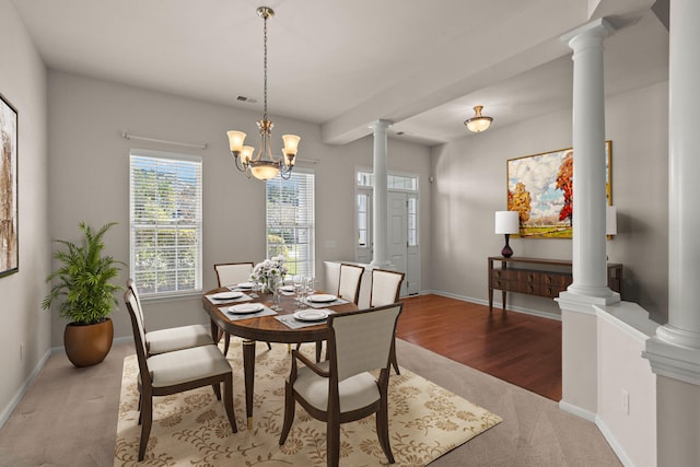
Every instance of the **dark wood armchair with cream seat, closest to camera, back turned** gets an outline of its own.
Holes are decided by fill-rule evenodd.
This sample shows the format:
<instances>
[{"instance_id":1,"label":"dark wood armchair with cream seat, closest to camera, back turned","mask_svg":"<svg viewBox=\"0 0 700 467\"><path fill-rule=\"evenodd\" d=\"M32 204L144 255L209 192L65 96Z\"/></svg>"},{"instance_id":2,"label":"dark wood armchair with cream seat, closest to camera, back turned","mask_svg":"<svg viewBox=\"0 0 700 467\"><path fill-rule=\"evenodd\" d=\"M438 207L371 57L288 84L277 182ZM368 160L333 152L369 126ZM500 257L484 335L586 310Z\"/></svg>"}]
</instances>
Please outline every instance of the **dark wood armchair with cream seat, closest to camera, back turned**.
<instances>
[{"instance_id":1,"label":"dark wood armchair with cream seat, closest to camera, back turned","mask_svg":"<svg viewBox=\"0 0 700 467\"><path fill-rule=\"evenodd\" d=\"M376 432L390 464L394 455L388 432L388 382L396 322L401 303L328 317L328 359L314 363L299 350L284 383L284 421L280 445L294 421L299 402L315 419L326 422L328 466L340 456L340 424L376 413ZM362 345L358 346L358 336ZM302 362L303 365L299 365ZM369 373L380 370L378 378Z\"/></svg>"}]
</instances>

